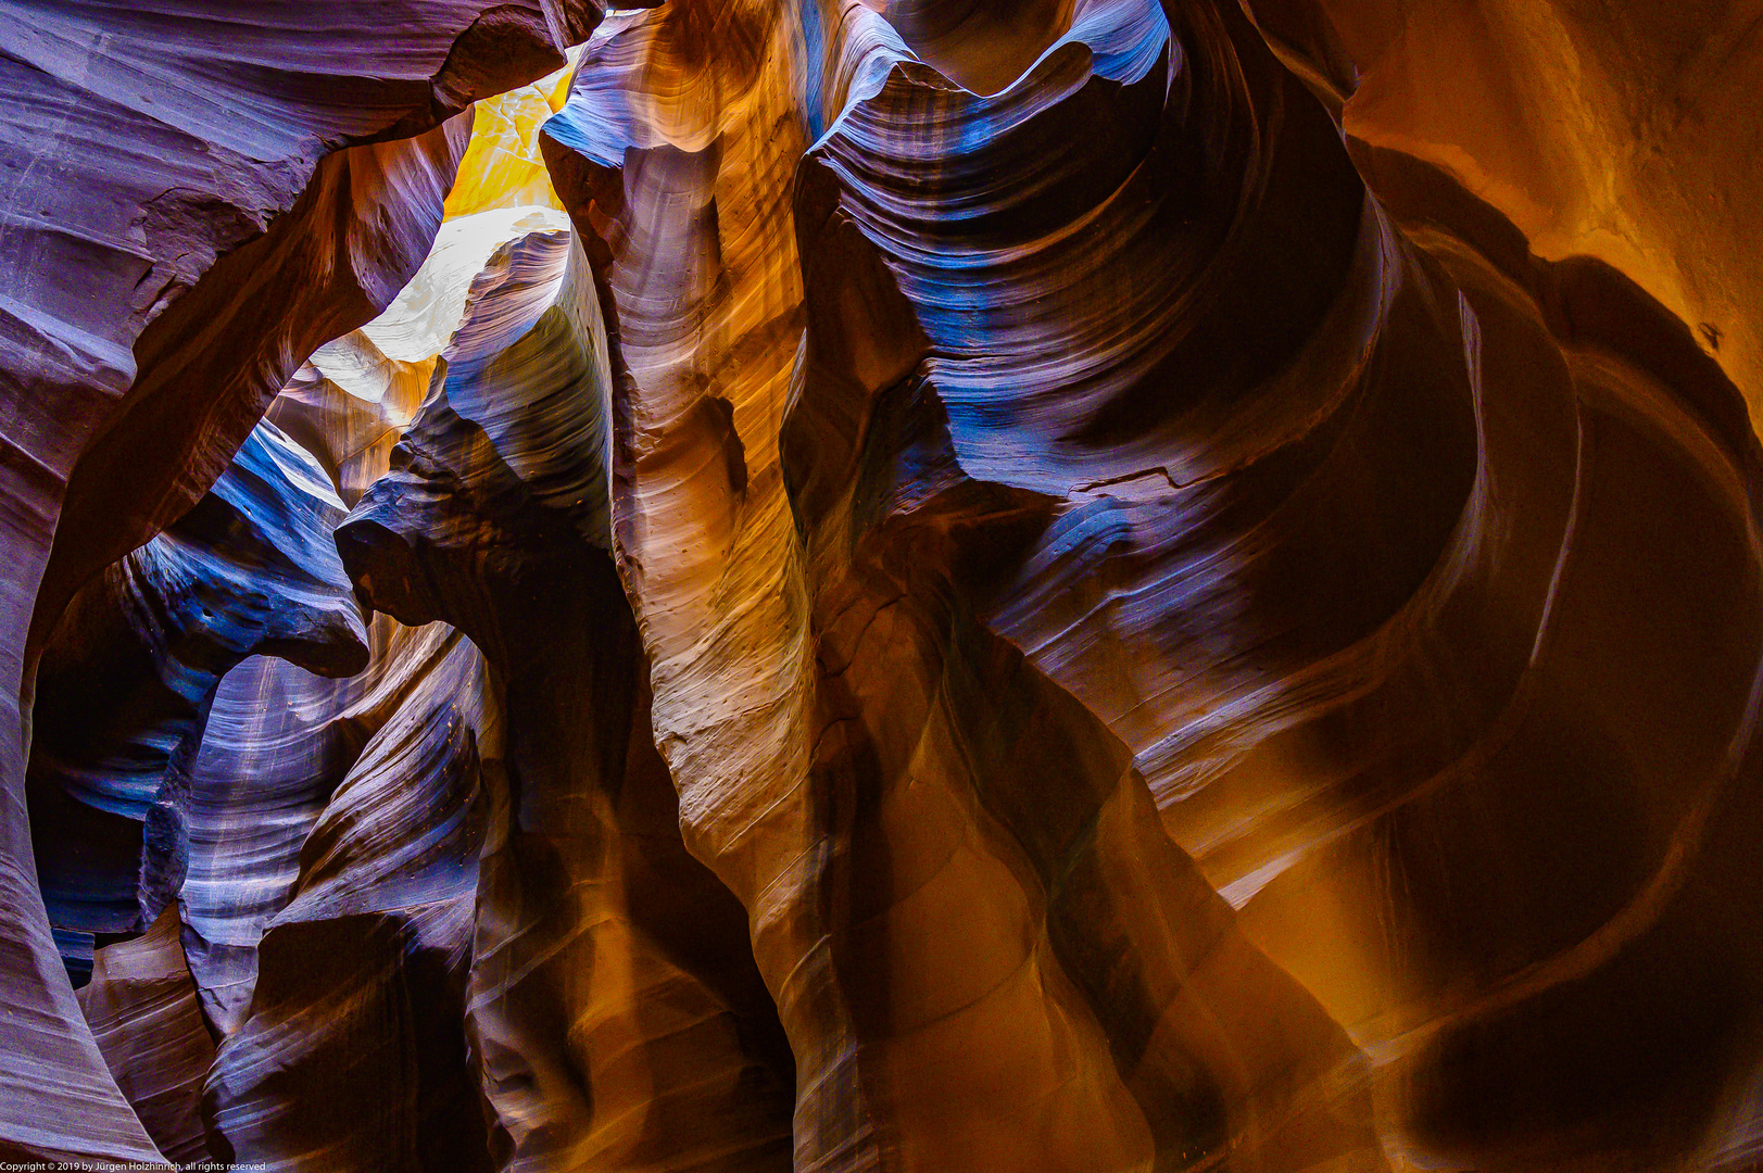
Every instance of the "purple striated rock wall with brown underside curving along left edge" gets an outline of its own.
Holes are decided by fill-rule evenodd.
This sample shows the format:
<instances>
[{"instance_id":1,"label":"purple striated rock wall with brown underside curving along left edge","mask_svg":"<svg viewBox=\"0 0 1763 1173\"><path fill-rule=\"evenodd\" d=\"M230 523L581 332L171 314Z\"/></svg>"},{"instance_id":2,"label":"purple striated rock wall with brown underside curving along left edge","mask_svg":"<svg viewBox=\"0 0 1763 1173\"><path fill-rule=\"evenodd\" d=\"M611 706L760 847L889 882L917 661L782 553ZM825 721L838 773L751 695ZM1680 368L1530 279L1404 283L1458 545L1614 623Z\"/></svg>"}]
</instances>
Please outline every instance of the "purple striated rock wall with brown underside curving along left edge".
<instances>
[{"instance_id":1,"label":"purple striated rock wall with brown underside curving along left edge","mask_svg":"<svg viewBox=\"0 0 1763 1173\"><path fill-rule=\"evenodd\" d=\"M192 506L317 344L428 249L472 99L562 64L585 4L60 4L0 12L0 1148L153 1161L37 894L35 656ZM414 136L414 138L413 138Z\"/></svg>"}]
</instances>

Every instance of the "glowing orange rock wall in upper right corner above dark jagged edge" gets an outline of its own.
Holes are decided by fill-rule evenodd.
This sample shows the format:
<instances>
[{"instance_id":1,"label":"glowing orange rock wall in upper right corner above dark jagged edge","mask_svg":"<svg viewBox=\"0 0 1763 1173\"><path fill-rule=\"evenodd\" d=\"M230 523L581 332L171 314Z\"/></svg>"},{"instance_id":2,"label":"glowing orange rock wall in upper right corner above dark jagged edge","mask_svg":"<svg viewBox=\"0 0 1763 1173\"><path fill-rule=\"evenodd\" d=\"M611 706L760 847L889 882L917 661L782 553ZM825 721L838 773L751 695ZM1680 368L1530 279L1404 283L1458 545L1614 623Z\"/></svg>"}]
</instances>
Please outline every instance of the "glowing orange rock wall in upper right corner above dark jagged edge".
<instances>
[{"instance_id":1,"label":"glowing orange rock wall in upper right corner above dark jagged edge","mask_svg":"<svg viewBox=\"0 0 1763 1173\"><path fill-rule=\"evenodd\" d=\"M1759 415L1751 245L1763 39L1745 4L1252 0L1269 44L1342 109L1391 206L1389 150L1444 169L1539 258L1597 258L1696 332ZM1432 206L1428 206L1432 205ZM1440 215L1419 196L1417 213Z\"/></svg>"}]
</instances>

